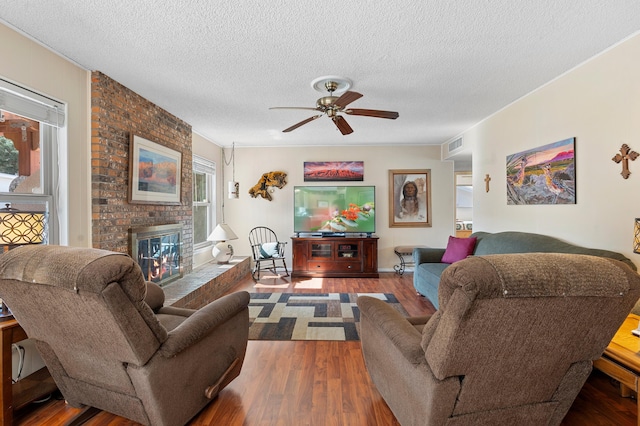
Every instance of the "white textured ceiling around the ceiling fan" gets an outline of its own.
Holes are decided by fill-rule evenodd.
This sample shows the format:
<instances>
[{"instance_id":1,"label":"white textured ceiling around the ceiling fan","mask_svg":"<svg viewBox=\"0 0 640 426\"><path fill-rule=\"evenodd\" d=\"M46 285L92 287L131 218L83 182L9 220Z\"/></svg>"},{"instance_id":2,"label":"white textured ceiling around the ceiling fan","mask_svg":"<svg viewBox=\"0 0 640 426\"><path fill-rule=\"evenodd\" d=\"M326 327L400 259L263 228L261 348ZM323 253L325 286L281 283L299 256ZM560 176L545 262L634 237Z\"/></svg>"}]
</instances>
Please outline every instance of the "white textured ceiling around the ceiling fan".
<instances>
[{"instance_id":1,"label":"white textured ceiling around the ceiling fan","mask_svg":"<svg viewBox=\"0 0 640 426\"><path fill-rule=\"evenodd\" d=\"M640 30L637 0L0 0L0 21L231 146L441 144ZM5 58L6 60L6 58ZM327 117L311 81L397 120Z\"/></svg>"}]
</instances>

